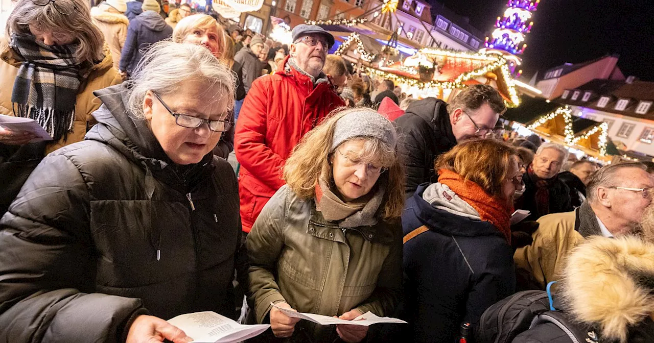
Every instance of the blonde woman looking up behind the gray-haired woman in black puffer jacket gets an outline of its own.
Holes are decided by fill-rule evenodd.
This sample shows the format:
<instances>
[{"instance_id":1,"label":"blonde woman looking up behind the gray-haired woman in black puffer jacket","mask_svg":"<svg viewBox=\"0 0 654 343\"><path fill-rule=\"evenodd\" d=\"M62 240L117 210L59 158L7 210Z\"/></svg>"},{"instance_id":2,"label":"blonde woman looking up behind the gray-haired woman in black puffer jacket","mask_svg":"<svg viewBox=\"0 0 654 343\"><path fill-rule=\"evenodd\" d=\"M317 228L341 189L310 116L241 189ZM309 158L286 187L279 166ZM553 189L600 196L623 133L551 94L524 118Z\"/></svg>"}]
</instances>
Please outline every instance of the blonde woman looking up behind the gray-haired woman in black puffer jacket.
<instances>
[{"instance_id":1,"label":"blonde woman looking up behind the gray-haired woman in black puffer jacket","mask_svg":"<svg viewBox=\"0 0 654 343\"><path fill-rule=\"evenodd\" d=\"M222 27L212 16L194 14L179 20L173 31L173 41L205 46L219 61L232 67L230 60L226 57L226 35ZM237 92L234 95L238 95ZM234 150L233 117L233 115L230 116L230 130L222 136L222 139L220 139L220 142L218 142L218 145L213 150L216 156L224 159Z\"/></svg>"}]
</instances>

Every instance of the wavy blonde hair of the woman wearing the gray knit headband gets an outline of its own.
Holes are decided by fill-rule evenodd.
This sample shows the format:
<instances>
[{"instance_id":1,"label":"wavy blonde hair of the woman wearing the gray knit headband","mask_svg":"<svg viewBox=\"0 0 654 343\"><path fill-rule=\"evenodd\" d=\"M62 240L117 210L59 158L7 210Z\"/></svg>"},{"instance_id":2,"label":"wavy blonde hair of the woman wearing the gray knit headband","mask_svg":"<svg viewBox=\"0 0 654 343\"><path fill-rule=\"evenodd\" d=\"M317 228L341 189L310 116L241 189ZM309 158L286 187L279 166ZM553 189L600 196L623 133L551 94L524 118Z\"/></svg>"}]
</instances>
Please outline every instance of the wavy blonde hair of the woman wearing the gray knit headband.
<instances>
[{"instance_id":1,"label":"wavy blonde hair of the woman wearing the gray knit headband","mask_svg":"<svg viewBox=\"0 0 654 343\"><path fill-rule=\"evenodd\" d=\"M321 175L326 180L332 181L330 161L336 151L332 150L336 122L346 114L362 110L374 112L370 108L362 107L337 108L295 146L284 165L284 180L298 197L302 199L315 197L315 185ZM388 169L377 180L378 184L385 186L384 199L378 212L379 216L383 220L399 217L404 207L404 169L396 151L379 139L355 137L351 140L356 139L366 140L364 151L356 158L364 162L379 161L384 168Z\"/></svg>"}]
</instances>

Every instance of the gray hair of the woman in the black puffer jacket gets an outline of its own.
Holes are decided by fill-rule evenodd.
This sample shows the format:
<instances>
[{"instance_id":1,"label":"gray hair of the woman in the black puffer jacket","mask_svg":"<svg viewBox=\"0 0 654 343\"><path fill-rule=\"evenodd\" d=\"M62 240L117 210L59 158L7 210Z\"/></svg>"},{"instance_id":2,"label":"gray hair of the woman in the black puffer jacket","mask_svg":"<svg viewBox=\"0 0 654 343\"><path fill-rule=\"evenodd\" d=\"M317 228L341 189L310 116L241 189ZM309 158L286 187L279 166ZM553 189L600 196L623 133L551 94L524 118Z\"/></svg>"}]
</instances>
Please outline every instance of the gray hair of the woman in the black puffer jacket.
<instances>
[{"instance_id":1,"label":"gray hair of the woman in the black puffer jacket","mask_svg":"<svg viewBox=\"0 0 654 343\"><path fill-rule=\"evenodd\" d=\"M143 100L148 91L165 96L176 93L188 82L201 82L203 91L196 95L204 103L228 99L228 110L234 105L236 80L226 64L216 59L209 49L198 44L161 41L150 46L128 81L128 110L134 118L143 119ZM215 91L218 93L209 93Z\"/></svg>"}]
</instances>

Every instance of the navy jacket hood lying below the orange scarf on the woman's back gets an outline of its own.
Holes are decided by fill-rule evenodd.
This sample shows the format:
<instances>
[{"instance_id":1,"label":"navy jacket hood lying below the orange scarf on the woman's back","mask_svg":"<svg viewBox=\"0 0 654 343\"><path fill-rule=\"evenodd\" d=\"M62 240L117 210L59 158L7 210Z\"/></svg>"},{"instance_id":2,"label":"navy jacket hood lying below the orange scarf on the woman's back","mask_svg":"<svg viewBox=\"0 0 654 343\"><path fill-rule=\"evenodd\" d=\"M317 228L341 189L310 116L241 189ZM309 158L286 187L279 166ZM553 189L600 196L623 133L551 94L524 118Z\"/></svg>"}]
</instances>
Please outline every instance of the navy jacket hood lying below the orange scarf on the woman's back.
<instances>
[{"instance_id":1,"label":"navy jacket hood lying below the orange scarf on the woman's back","mask_svg":"<svg viewBox=\"0 0 654 343\"><path fill-rule=\"evenodd\" d=\"M418 186L418 189L416 189L413 196L407 200L407 204L405 205L405 210L413 210L413 214L421 221L421 223L427 225L430 230L436 231L441 235L447 235L447 236L464 236L464 237L498 236L504 239L502 233L500 233L500 231L488 221L473 219L471 218L472 217L471 214L464 214L465 212L462 212L459 215L453 213L453 209L445 210L432 206L432 204L428 203L423 199L423 194L429 186L430 184L421 184L420 186ZM428 192L427 196L432 201L437 201L437 199L439 199L439 196L435 194L436 190L437 188L432 187ZM454 193L449 188L447 189L443 188L443 191L449 191L451 193ZM464 208L462 204L459 203L459 205L460 206L458 208L460 209ZM455 206L453 206L453 208L454 207Z\"/></svg>"}]
</instances>

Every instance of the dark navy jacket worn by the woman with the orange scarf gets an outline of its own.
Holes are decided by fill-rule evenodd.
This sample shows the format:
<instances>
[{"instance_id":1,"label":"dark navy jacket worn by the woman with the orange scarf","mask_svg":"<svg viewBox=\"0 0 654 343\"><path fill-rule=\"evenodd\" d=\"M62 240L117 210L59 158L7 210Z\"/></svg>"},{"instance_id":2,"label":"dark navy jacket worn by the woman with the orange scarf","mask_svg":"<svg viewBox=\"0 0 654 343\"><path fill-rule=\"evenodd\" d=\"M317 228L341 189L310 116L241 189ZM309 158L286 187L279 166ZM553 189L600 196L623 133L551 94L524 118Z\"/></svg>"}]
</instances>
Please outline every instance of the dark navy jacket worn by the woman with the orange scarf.
<instances>
[{"instance_id":1,"label":"dark navy jacket worn by the woman with the orange scarf","mask_svg":"<svg viewBox=\"0 0 654 343\"><path fill-rule=\"evenodd\" d=\"M451 343L461 323L471 323L472 333L490 305L513 294L513 250L488 221L424 201L428 185L418 186L402 212L404 235L429 229L404 244L405 341Z\"/></svg>"}]
</instances>

